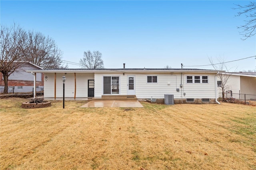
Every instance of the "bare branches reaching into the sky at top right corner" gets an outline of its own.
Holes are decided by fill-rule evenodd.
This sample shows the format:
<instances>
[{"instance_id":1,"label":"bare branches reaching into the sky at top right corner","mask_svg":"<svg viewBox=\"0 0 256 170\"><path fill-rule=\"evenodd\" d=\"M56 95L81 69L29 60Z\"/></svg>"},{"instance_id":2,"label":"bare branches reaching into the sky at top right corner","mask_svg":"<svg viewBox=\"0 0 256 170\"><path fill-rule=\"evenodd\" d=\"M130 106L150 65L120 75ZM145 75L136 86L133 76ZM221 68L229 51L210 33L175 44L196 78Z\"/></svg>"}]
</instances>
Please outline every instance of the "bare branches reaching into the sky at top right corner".
<instances>
[{"instance_id":1,"label":"bare branches reaching into the sky at top right corner","mask_svg":"<svg viewBox=\"0 0 256 170\"><path fill-rule=\"evenodd\" d=\"M245 15L246 18L248 18L248 20L244 21L244 25L237 27L243 30L242 32L240 32L240 34L245 37L242 38L242 40L246 40L247 38L252 37L256 34L256 2L250 2L248 5L245 6L236 4L236 6L238 6L238 8L233 9L241 10L237 13L236 16Z\"/></svg>"}]
</instances>

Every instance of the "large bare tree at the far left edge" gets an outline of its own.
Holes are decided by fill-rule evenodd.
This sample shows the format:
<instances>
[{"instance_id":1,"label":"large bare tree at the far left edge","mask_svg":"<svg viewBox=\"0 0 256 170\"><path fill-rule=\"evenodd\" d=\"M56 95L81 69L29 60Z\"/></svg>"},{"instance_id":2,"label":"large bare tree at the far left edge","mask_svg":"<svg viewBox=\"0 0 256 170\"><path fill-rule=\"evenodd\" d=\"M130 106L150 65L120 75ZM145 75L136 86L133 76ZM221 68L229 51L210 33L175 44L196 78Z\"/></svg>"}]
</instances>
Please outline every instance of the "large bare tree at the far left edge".
<instances>
[{"instance_id":1,"label":"large bare tree at the far left edge","mask_svg":"<svg viewBox=\"0 0 256 170\"><path fill-rule=\"evenodd\" d=\"M14 23L10 28L1 25L0 33L0 72L4 77L4 94L8 93L8 77L24 61L26 32Z\"/></svg>"}]
</instances>

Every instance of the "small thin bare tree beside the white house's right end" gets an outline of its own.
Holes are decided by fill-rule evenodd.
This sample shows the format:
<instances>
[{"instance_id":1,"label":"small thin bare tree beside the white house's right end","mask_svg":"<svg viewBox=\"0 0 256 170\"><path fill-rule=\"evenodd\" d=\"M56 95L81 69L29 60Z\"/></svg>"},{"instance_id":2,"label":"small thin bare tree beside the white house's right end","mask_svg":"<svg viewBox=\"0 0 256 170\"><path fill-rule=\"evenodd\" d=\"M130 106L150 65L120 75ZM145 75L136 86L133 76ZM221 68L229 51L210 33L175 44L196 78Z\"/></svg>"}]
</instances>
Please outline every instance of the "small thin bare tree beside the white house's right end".
<instances>
[{"instance_id":1,"label":"small thin bare tree beside the white house's right end","mask_svg":"<svg viewBox=\"0 0 256 170\"><path fill-rule=\"evenodd\" d=\"M220 64L214 64L212 58L209 58L209 61L212 65L212 67L215 70L226 70L226 73L219 73L218 74L218 78L220 79L220 84L218 84L218 87L220 87L222 89L222 100L225 100L225 91L229 88L227 85L228 79L230 77L230 75L232 75L232 73L229 72L229 69L227 68L227 66L225 65L225 61L224 58L218 58L218 62Z\"/></svg>"}]
</instances>

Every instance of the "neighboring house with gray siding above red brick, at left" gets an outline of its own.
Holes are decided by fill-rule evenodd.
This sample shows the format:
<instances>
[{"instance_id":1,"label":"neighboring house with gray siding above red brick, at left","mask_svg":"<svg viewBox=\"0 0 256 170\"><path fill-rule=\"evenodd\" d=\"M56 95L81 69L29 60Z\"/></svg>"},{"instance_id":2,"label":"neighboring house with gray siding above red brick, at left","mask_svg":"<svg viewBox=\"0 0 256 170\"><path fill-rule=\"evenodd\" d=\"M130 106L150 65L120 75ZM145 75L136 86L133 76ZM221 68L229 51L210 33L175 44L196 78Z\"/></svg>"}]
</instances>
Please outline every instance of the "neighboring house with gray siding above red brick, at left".
<instances>
[{"instance_id":1,"label":"neighboring house with gray siding above red brick, at left","mask_svg":"<svg viewBox=\"0 0 256 170\"><path fill-rule=\"evenodd\" d=\"M17 69L8 77L8 93L22 93L22 92L32 92L34 88L34 75L26 72L25 70L42 70L42 67L32 64L30 62L24 62L22 67ZM4 77L0 73L0 92L4 91ZM44 78L43 73L36 74L36 91L41 91L44 88Z\"/></svg>"}]
</instances>

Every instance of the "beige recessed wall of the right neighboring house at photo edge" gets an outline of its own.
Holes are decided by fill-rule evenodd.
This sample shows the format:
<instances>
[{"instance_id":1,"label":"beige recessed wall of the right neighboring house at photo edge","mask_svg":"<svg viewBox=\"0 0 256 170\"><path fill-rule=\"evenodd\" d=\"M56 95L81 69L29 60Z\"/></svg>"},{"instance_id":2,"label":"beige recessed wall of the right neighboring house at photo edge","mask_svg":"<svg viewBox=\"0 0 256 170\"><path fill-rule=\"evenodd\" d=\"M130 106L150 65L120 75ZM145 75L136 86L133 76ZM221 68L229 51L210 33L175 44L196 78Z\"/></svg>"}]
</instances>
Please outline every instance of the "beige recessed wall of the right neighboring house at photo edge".
<instances>
[{"instance_id":1,"label":"beige recessed wall of the right neighboring house at photo edge","mask_svg":"<svg viewBox=\"0 0 256 170\"><path fill-rule=\"evenodd\" d=\"M240 87L240 93L246 94L246 99L256 99L256 77L240 76ZM244 99L244 95L241 95L241 99Z\"/></svg>"}]
</instances>

